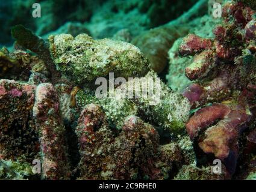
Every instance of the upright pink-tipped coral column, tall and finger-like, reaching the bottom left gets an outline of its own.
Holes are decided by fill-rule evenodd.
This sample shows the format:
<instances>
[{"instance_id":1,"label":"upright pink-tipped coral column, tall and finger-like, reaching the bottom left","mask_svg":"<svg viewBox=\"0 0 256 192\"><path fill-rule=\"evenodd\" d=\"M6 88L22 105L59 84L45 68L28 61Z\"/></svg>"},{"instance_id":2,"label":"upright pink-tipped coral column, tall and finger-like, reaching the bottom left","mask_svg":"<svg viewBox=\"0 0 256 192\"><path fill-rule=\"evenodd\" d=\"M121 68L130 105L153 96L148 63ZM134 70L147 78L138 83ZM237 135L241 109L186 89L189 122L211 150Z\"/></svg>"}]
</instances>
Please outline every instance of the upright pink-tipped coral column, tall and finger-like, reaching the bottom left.
<instances>
[{"instance_id":1,"label":"upright pink-tipped coral column, tall and finger-like, reaching the bottom left","mask_svg":"<svg viewBox=\"0 0 256 192\"><path fill-rule=\"evenodd\" d=\"M58 95L51 83L42 83L36 89L33 115L39 131L42 152L42 177L68 179L69 163L64 139L64 125L58 109ZM51 143L51 145L49 145Z\"/></svg>"}]
</instances>

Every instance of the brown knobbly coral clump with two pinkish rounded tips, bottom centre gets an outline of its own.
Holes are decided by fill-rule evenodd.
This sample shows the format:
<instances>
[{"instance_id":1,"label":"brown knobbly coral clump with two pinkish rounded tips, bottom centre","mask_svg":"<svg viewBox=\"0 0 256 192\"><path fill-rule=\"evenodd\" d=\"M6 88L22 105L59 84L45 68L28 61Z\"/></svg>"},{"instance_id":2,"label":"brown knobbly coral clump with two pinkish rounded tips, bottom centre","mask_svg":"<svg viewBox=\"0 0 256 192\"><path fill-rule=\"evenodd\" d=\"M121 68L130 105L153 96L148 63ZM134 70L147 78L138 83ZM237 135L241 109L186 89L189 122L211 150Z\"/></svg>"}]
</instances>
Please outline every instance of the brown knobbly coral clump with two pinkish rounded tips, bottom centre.
<instances>
[{"instance_id":1,"label":"brown knobbly coral clump with two pinkish rounded tips, bottom centre","mask_svg":"<svg viewBox=\"0 0 256 192\"><path fill-rule=\"evenodd\" d=\"M128 116L113 137L107 119L95 104L84 107L78 127L80 179L167 179L182 161L175 143L161 146L152 125Z\"/></svg>"}]
</instances>

